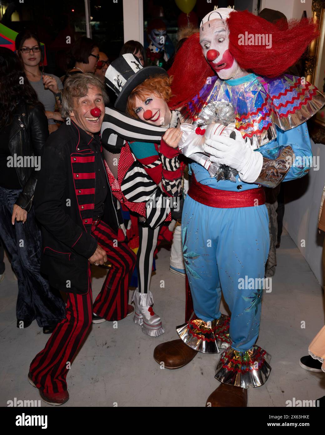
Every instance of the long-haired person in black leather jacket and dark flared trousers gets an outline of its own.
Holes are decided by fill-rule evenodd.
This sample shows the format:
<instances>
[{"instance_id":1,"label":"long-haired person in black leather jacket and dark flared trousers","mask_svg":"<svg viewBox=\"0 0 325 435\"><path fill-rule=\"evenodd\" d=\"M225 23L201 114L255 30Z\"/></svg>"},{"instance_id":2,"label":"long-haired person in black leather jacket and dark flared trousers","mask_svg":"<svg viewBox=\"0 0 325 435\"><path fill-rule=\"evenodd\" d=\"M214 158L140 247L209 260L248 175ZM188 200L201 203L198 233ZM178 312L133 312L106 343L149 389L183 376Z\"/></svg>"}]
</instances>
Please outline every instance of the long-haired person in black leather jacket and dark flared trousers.
<instances>
[{"instance_id":1,"label":"long-haired person in black leather jacket and dark flared trousers","mask_svg":"<svg viewBox=\"0 0 325 435\"><path fill-rule=\"evenodd\" d=\"M60 293L40 274L41 233L33 198L49 135L44 106L13 51L0 47L0 237L18 279L17 328L36 319L50 334L64 318Z\"/></svg>"}]
</instances>

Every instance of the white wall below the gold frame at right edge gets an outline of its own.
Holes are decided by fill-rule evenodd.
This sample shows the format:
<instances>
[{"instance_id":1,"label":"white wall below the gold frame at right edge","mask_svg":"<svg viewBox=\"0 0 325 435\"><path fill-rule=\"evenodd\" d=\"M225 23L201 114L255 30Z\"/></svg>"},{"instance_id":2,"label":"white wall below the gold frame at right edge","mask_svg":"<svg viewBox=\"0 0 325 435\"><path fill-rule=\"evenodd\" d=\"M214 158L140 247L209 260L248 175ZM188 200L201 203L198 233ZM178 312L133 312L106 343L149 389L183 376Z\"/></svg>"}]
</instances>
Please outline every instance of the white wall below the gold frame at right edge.
<instances>
[{"instance_id":1,"label":"white wall below the gold frame at right edge","mask_svg":"<svg viewBox=\"0 0 325 435\"><path fill-rule=\"evenodd\" d=\"M284 227L305 257L322 285L322 245L324 233L317 229L318 212L325 183L325 145L314 144L312 154L319 158L319 170L306 177L285 183ZM301 246L305 241L305 247Z\"/></svg>"}]
</instances>

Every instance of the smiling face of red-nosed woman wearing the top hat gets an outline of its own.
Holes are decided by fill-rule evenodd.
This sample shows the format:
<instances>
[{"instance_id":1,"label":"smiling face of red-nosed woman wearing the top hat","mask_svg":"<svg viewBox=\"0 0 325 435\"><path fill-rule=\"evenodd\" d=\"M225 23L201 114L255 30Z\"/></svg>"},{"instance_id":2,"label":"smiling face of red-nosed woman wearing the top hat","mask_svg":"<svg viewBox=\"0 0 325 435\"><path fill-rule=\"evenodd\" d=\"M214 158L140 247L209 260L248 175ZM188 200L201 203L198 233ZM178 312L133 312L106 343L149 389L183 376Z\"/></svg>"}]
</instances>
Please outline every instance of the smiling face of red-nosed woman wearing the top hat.
<instances>
[{"instance_id":1,"label":"smiling face of red-nosed woman wearing the top hat","mask_svg":"<svg viewBox=\"0 0 325 435\"><path fill-rule=\"evenodd\" d=\"M148 95L145 100L136 97L133 110L137 117L149 124L165 127L171 122L171 111L166 101L155 94Z\"/></svg>"}]
</instances>

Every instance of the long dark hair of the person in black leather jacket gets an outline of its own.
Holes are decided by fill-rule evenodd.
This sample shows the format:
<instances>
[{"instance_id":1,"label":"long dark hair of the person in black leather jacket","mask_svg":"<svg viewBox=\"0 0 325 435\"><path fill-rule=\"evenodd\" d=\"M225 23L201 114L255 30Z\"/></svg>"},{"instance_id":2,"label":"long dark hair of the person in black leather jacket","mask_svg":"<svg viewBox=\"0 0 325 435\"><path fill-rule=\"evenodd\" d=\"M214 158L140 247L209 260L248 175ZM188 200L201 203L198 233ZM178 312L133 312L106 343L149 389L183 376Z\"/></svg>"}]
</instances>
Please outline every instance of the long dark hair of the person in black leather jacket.
<instances>
[{"instance_id":1,"label":"long dark hair of the person in black leather jacket","mask_svg":"<svg viewBox=\"0 0 325 435\"><path fill-rule=\"evenodd\" d=\"M10 124L15 108L22 101L44 109L19 57L9 48L0 47L0 130Z\"/></svg>"}]
</instances>

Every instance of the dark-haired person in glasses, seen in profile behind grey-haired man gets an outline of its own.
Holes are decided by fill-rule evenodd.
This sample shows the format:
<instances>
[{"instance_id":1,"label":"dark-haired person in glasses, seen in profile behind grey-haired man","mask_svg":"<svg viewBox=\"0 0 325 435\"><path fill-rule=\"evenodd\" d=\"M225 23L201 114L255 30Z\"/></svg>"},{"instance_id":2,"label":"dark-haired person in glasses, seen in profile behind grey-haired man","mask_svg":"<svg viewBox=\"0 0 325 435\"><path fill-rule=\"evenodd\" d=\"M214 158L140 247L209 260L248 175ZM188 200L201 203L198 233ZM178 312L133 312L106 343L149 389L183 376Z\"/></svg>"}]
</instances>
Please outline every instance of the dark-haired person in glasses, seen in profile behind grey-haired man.
<instances>
[{"instance_id":1,"label":"dark-haired person in glasses, seen in profile behind grey-haired man","mask_svg":"<svg viewBox=\"0 0 325 435\"><path fill-rule=\"evenodd\" d=\"M99 61L99 48L90 38L82 36L71 47L71 56L74 60L74 67L71 68L63 79L74 74L94 73Z\"/></svg>"}]
</instances>

